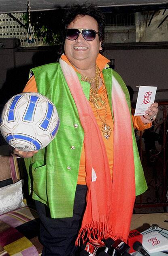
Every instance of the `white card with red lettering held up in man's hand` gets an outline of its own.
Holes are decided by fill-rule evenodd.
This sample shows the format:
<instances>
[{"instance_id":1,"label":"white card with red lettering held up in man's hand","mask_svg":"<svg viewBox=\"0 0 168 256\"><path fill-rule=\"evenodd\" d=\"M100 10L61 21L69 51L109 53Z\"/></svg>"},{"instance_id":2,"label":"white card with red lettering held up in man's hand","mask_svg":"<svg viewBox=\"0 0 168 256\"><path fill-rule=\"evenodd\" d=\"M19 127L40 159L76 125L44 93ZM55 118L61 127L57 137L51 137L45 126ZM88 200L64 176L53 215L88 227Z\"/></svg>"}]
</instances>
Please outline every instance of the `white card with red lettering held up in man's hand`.
<instances>
[{"instance_id":1,"label":"white card with red lettering held up in man's hand","mask_svg":"<svg viewBox=\"0 0 168 256\"><path fill-rule=\"evenodd\" d=\"M156 86L139 86L134 115L144 115L147 108L155 102Z\"/></svg>"}]
</instances>

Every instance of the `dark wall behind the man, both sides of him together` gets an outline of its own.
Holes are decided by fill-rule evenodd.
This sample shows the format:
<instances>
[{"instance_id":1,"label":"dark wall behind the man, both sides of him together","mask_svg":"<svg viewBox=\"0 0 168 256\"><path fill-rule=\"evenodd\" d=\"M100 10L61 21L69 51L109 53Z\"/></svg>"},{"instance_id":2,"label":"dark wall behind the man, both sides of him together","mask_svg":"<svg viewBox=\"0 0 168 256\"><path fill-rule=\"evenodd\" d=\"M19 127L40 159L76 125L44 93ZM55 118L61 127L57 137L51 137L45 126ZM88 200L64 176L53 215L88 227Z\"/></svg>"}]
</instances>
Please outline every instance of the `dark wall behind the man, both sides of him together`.
<instances>
[{"instance_id":1,"label":"dark wall behind the man, both sides of him together","mask_svg":"<svg viewBox=\"0 0 168 256\"><path fill-rule=\"evenodd\" d=\"M136 43L134 43L136 45ZM150 46L148 46L150 47ZM104 55L108 59L115 59L115 70L119 72L127 85L134 91L136 86L157 86L157 89L168 89L168 44L167 48L136 49L106 45ZM124 50L125 49L125 50ZM9 49L11 51L11 49ZM6 50L0 50L0 104L20 93L28 80L29 70L32 67L55 62L57 49L54 47L36 49L17 49L15 59L9 57ZM6 64L8 65L6 66ZM134 94L134 100L136 99ZM158 100L168 100L168 92L158 92Z\"/></svg>"}]
</instances>

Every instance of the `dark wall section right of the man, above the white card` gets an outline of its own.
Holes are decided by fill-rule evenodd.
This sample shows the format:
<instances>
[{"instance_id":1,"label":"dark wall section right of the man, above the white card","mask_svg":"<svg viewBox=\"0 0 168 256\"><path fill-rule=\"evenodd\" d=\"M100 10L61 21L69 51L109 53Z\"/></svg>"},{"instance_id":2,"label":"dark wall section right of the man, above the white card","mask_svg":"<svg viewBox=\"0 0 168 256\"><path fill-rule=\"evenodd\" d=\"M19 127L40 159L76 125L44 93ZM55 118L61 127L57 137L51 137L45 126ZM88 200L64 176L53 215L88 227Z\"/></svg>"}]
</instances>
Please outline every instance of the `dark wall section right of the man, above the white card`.
<instances>
[{"instance_id":1,"label":"dark wall section right of the man, above the white card","mask_svg":"<svg viewBox=\"0 0 168 256\"><path fill-rule=\"evenodd\" d=\"M134 91L138 85L168 89L168 49L106 50L106 56L115 59L115 70ZM168 100L168 92L158 92L156 99Z\"/></svg>"}]
</instances>

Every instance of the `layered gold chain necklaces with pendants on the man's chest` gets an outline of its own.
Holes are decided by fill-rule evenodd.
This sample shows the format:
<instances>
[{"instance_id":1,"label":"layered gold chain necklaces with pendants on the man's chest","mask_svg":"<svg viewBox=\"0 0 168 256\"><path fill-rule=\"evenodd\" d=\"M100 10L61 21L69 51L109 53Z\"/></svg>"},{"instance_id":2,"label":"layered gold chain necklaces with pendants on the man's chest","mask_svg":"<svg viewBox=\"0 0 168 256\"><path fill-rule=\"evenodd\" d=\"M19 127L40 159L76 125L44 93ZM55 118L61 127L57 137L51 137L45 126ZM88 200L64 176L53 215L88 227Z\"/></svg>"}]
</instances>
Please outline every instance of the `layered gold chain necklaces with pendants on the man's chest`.
<instances>
[{"instance_id":1,"label":"layered gold chain necklaces with pendants on the man's chest","mask_svg":"<svg viewBox=\"0 0 168 256\"><path fill-rule=\"evenodd\" d=\"M105 89L104 83L102 81L102 78L100 78L101 82L102 82L103 98L104 98L104 100L102 100L102 97L98 96L99 77L100 77L100 69L96 65L95 76L93 78L87 78L86 76L81 75L81 80L85 81L85 82L89 82L91 85L89 101L91 103L93 103L96 113L98 115L98 118L100 119L100 121L102 123L101 131L103 133L103 136L106 139L108 139L111 135L111 127L108 124L106 124L106 118L107 118L106 89ZM94 83L95 83L95 88L92 87L92 84L94 84ZM104 121L102 120L102 118L100 117L100 115L98 113L98 109L102 109L103 106L104 106Z\"/></svg>"}]
</instances>

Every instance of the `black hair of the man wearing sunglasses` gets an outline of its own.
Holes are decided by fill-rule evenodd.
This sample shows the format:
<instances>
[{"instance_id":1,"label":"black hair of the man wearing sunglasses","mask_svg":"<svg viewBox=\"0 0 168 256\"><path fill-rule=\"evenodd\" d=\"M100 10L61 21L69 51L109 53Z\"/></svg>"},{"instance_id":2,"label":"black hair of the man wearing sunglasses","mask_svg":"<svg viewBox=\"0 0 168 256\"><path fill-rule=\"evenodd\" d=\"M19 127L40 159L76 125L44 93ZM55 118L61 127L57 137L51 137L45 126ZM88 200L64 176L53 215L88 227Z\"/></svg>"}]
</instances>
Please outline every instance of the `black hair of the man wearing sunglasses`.
<instances>
[{"instance_id":1,"label":"black hair of the man wearing sunglasses","mask_svg":"<svg viewBox=\"0 0 168 256\"><path fill-rule=\"evenodd\" d=\"M93 4L75 4L72 5L71 7L69 7L68 9L66 9L65 13L64 13L64 17L63 17L63 24L64 24L64 31L62 31L62 46L60 48L60 52L59 55L61 55L64 52L64 43L65 43L65 39L66 39L66 28L68 27L68 25L75 20L75 18L77 17L77 15L89 15L91 17L93 17L97 23L98 23L98 37L100 41L104 40L104 29L105 29L105 16L102 13L102 11L100 11L100 9L98 7L96 7ZM104 50L104 47L102 45L102 48ZM100 52L102 53L103 50L101 50Z\"/></svg>"}]
</instances>

